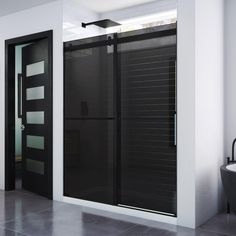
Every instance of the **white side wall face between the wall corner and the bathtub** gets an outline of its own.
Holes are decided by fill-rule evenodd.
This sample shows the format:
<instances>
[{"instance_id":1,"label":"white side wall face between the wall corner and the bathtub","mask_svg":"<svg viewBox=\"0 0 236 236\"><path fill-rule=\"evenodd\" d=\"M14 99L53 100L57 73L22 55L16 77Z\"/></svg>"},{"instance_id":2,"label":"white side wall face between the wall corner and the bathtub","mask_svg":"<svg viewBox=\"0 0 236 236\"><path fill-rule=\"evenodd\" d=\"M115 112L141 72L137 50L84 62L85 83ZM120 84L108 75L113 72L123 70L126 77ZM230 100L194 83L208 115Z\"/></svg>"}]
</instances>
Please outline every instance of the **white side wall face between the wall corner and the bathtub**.
<instances>
[{"instance_id":1,"label":"white side wall face between the wall corner and the bathtub","mask_svg":"<svg viewBox=\"0 0 236 236\"><path fill-rule=\"evenodd\" d=\"M196 1L196 225L221 209L224 158L224 1Z\"/></svg>"}]
</instances>

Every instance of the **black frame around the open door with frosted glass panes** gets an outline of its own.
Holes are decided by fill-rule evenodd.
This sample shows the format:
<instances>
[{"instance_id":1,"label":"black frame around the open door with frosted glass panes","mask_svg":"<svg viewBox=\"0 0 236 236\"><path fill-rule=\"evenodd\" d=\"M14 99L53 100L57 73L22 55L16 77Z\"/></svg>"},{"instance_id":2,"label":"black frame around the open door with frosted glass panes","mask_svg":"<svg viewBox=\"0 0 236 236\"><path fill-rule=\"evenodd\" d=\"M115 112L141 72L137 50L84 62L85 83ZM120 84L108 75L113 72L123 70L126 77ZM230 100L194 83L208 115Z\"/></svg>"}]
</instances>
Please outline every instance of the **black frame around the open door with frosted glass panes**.
<instances>
[{"instance_id":1,"label":"black frame around the open door with frosted glass panes","mask_svg":"<svg viewBox=\"0 0 236 236\"><path fill-rule=\"evenodd\" d=\"M5 190L15 189L15 46L48 39L49 88L51 109L49 123L48 198L53 196L53 31L44 31L5 41Z\"/></svg>"}]
</instances>

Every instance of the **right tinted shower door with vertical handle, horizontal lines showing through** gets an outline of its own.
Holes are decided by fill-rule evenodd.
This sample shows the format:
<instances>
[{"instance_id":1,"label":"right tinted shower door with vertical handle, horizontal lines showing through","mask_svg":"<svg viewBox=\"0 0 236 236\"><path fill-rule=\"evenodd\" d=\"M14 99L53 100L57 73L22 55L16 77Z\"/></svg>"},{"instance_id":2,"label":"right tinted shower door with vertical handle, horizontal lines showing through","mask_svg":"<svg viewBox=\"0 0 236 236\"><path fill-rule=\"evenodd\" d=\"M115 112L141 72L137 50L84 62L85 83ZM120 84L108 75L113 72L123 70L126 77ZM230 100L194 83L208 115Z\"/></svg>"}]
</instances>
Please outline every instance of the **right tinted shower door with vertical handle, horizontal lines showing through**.
<instances>
[{"instance_id":1,"label":"right tinted shower door with vertical handle, horizontal lines showing through","mask_svg":"<svg viewBox=\"0 0 236 236\"><path fill-rule=\"evenodd\" d=\"M119 205L176 215L176 35L141 33L118 45Z\"/></svg>"}]
</instances>

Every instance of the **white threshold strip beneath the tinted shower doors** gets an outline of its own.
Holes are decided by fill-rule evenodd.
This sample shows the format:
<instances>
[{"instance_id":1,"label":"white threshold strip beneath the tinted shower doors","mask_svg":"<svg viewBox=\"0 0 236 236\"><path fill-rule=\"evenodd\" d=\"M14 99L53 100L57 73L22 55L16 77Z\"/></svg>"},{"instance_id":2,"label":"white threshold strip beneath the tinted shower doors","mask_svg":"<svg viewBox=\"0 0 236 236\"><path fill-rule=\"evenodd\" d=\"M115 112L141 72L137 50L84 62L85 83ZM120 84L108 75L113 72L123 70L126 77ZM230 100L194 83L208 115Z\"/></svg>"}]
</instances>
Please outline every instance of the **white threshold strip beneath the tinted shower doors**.
<instances>
[{"instance_id":1,"label":"white threshold strip beneath the tinted shower doors","mask_svg":"<svg viewBox=\"0 0 236 236\"><path fill-rule=\"evenodd\" d=\"M138 218L142 218L145 220L152 220L152 221L177 225L177 218L176 217L159 215L159 214L155 214L155 213L144 212L144 211L139 211L139 210L134 210L134 209L129 209L129 208L123 208L123 207L119 207L119 206L112 206L112 205L108 205L108 204L86 201L86 200L81 200L81 199L77 199L77 198L70 198L70 197L63 197L63 202L71 203L71 204L75 204L75 205L80 205L83 207L94 208L94 209L101 210L101 211L108 211L108 212L112 212L112 213L123 214L126 216L138 217ZM112 217L112 216L109 215L109 217Z\"/></svg>"}]
</instances>

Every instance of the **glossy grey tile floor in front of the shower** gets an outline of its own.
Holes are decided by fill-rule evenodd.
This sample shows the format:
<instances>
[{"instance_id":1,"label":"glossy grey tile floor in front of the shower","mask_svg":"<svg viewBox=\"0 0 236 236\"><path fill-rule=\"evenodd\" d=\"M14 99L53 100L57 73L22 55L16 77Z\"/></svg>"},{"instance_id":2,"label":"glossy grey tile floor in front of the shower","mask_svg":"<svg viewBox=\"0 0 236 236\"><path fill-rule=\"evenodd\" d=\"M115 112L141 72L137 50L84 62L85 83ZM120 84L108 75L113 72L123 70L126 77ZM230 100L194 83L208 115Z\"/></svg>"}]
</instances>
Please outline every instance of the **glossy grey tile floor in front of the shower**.
<instances>
[{"instance_id":1,"label":"glossy grey tile floor in front of the shower","mask_svg":"<svg viewBox=\"0 0 236 236\"><path fill-rule=\"evenodd\" d=\"M0 191L0 236L235 236L236 216L221 214L191 230L49 201L24 192Z\"/></svg>"}]
</instances>

